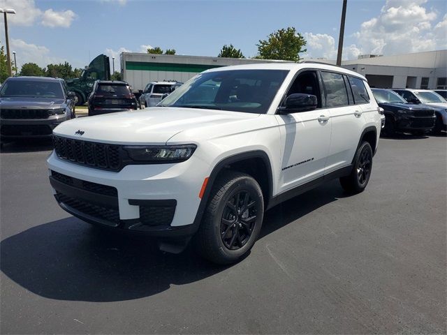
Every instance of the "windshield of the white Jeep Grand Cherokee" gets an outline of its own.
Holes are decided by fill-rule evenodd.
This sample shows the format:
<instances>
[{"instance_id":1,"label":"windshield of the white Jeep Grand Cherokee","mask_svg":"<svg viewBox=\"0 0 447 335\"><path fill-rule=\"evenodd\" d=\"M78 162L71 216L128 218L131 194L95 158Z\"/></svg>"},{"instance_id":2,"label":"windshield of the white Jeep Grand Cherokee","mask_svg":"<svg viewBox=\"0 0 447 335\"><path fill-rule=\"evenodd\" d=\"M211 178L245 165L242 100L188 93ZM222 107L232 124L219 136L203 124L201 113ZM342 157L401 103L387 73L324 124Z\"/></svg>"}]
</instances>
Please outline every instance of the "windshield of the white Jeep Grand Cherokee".
<instances>
[{"instance_id":1,"label":"windshield of the white Jeep Grand Cherokee","mask_svg":"<svg viewBox=\"0 0 447 335\"><path fill-rule=\"evenodd\" d=\"M223 70L196 75L159 106L265 114L288 70Z\"/></svg>"}]
</instances>

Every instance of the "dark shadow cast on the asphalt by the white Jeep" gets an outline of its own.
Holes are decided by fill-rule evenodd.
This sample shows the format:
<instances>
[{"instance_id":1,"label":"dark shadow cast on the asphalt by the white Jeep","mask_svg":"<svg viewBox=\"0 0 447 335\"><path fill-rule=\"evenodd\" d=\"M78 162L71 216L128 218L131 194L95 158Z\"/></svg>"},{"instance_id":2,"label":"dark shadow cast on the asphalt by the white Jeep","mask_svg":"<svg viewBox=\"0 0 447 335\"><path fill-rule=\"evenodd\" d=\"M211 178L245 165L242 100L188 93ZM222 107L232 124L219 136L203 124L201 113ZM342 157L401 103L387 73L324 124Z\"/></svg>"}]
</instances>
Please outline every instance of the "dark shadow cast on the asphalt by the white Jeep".
<instances>
[{"instance_id":1,"label":"dark shadow cast on the asphalt by the white Jeep","mask_svg":"<svg viewBox=\"0 0 447 335\"><path fill-rule=\"evenodd\" d=\"M274 207L261 237L344 197L330 183ZM149 297L225 271L191 246L162 253L145 237L99 229L69 217L38 225L1 241L0 268L36 295L69 301L124 301ZM243 260L242 260L243 262Z\"/></svg>"}]
</instances>

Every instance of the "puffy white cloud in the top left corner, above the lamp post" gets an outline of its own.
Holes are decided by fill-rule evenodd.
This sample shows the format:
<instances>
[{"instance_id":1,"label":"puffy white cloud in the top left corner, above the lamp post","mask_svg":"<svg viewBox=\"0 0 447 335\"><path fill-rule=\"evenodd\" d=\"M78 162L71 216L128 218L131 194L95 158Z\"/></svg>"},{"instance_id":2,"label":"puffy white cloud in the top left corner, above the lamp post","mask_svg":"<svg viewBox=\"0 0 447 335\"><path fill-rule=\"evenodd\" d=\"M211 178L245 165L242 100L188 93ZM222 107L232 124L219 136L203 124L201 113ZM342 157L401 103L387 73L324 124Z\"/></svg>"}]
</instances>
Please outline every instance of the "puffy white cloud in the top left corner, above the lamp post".
<instances>
[{"instance_id":1,"label":"puffy white cloud in the top left corner, above the lamp post","mask_svg":"<svg viewBox=\"0 0 447 335\"><path fill-rule=\"evenodd\" d=\"M0 0L0 8L13 8L16 14L8 15L8 22L21 26L31 26L41 20L45 27L70 27L77 17L73 10L56 11L52 8L45 10L36 7L34 0Z\"/></svg>"}]
</instances>

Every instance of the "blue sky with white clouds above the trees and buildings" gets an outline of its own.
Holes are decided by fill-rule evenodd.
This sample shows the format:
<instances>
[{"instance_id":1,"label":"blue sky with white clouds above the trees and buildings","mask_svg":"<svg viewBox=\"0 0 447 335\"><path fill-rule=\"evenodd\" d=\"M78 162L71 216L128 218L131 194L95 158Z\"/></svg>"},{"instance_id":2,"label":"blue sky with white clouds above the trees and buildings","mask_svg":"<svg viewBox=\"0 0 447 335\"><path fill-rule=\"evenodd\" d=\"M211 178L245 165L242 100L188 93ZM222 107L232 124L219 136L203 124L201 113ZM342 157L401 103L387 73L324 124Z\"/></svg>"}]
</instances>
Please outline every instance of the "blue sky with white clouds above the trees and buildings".
<instances>
[{"instance_id":1,"label":"blue sky with white clouds above the trees and buildings","mask_svg":"<svg viewBox=\"0 0 447 335\"><path fill-rule=\"evenodd\" d=\"M286 27L305 36L302 56L335 59L342 0L0 0L0 8L17 10L8 23L19 66L66 60L83 67L97 54L119 58L120 51L147 45L217 56L232 43L251 57L258 40ZM446 49L446 13L446 1L348 0L344 59ZM3 22L0 27L3 44Z\"/></svg>"}]
</instances>

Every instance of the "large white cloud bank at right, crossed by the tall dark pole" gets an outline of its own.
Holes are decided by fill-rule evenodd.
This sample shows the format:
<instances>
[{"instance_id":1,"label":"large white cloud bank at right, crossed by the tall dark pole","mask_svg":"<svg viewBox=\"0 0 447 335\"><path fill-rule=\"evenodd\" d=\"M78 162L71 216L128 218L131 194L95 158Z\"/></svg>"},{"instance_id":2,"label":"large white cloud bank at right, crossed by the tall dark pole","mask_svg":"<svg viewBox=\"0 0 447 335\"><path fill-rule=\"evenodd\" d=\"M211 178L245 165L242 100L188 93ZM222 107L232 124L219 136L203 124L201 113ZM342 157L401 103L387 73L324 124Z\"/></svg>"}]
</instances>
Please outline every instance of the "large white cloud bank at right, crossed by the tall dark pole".
<instances>
[{"instance_id":1,"label":"large white cloud bank at right, crossed by the tall dark pole","mask_svg":"<svg viewBox=\"0 0 447 335\"><path fill-rule=\"evenodd\" d=\"M376 17L363 22L351 37L356 44L344 46L343 59L360 54L404 54L447 48L447 14L437 22L437 13L424 7L427 0L387 0ZM328 34L303 34L305 57L337 58L337 38ZM346 40L346 38L345 38Z\"/></svg>"}]
</instances>

